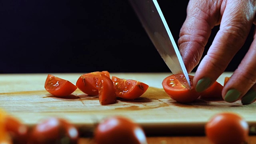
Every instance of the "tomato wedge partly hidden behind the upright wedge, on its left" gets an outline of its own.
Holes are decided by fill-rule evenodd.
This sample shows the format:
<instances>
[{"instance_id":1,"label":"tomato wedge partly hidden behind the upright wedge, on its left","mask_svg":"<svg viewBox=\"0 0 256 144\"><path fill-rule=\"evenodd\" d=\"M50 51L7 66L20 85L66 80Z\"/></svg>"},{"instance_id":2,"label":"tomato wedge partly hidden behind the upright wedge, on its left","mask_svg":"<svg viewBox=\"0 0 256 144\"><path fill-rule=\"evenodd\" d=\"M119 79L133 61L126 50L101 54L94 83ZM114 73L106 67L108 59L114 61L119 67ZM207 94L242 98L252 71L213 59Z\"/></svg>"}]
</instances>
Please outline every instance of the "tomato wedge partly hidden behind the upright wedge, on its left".
<instances>
[{"instance_id":1,"label":"tomato wedge partly hidden behind the upright wedge, on its left","mask_svg":"<svg viewBox=\"0 0 256 144\"><path fill-rule=\"evenodd\" d=\"M85 94L88 94L90 96L96 96L99 94L97 89L97 82L100 74L104 74L105 76L108 76L110 78L110 74L108 71L90 72L81 75L76 81L76 86Z\"/></svg>"}]
</instances>

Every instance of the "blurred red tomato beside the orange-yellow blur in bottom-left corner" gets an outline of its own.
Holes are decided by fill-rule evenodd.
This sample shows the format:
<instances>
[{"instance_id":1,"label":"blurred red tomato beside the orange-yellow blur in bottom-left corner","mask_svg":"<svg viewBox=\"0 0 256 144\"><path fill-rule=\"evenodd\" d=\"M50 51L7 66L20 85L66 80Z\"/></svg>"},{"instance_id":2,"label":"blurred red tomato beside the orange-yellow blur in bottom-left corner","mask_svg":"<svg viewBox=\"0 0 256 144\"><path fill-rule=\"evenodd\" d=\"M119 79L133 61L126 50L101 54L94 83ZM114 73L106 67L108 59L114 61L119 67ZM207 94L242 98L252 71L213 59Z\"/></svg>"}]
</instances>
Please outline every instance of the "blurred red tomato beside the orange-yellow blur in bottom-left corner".
<instances>
[{"instance_id":1,"label":"blurred red tomato beside the orange-yellow blur in bottom-left corner","mask_svg":"<svg viewBox=\"0 0 256 144\"><path fill-rule=\"evenodd\" d=\"M14 144L27 144L28 127L12 116L6 116L5 128Z\"/></svg>"}]
</instances>

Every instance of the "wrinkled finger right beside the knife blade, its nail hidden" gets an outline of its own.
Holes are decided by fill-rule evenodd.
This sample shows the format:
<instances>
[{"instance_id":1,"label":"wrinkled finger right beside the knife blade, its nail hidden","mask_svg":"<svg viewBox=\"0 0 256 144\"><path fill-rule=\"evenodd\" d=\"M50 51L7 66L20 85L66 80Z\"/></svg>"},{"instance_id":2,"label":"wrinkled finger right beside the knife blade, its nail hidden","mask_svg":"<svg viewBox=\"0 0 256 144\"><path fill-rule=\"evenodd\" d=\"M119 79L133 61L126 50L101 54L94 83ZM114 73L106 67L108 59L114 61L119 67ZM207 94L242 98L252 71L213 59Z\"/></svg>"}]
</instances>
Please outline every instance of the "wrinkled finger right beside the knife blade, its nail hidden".
<instances>
[{"instance_id":1,"label":"wrinkled finger right beside the knife blade, its nail hidden","mask_svg":"<svg viewBox=\"0 0 256 144\"><path fill-rule=\"evenodd\" d=\"M178 45L188 73L198 65L212 28L219 21L220 5L207 0L190 0Z\"/></svg>"}]
</instances>

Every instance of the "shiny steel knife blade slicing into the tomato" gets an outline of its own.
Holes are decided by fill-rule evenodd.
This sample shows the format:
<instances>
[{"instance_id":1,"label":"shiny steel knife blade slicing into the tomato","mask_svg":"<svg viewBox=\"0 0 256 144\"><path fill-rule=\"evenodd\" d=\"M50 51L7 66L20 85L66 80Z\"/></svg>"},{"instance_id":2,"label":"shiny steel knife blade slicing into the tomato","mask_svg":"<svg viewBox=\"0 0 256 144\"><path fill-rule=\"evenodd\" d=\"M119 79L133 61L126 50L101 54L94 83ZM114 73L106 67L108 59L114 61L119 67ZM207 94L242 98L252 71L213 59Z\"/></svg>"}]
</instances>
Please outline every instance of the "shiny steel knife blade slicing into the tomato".
<instances>
[{"instance_id":1,"label":"shiny steel knife blade slicing into the tomato","mask_svg":"<svg viewBox=\"0 0 256 144\"><path fill-rule=\"evenodd\" d=\"M172 74L183 86L191 89L188 71L158 2L156 0L130 0L130 4Z\"/></svg>"}]
</instances>

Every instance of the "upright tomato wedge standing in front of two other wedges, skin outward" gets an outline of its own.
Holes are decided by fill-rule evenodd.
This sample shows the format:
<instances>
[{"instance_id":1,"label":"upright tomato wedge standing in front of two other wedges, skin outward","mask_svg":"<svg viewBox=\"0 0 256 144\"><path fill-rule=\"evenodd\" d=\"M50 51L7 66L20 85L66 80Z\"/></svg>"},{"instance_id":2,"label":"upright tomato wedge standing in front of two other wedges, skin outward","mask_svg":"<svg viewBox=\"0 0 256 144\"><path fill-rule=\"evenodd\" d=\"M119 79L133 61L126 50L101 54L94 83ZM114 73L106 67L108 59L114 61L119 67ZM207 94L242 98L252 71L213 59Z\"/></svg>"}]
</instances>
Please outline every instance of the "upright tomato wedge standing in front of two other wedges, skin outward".
<instances>
[{"instance_id":1,"label":"upright tomato wedge standing in front of two other wedges, skin outward","mask_svg":"<svg viewBox=\"0 0 256 144\"><path fill-rule=\"evenodd\" d=\"M112 80L103 74L98 78L98 91L100 104L116 103L116 91Z\"/></svg>"}]
</instances>

